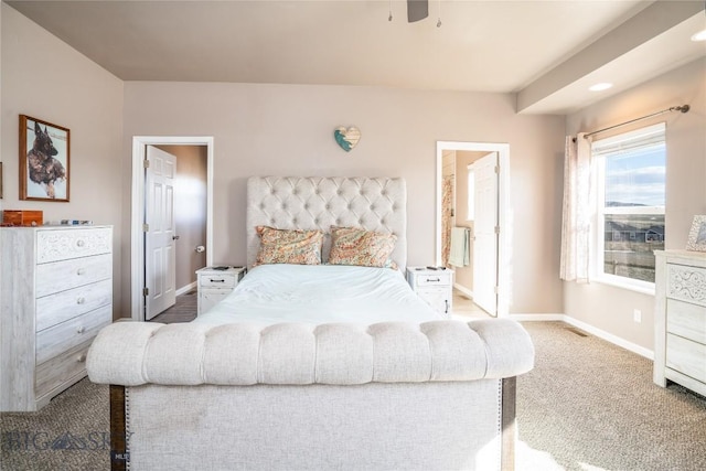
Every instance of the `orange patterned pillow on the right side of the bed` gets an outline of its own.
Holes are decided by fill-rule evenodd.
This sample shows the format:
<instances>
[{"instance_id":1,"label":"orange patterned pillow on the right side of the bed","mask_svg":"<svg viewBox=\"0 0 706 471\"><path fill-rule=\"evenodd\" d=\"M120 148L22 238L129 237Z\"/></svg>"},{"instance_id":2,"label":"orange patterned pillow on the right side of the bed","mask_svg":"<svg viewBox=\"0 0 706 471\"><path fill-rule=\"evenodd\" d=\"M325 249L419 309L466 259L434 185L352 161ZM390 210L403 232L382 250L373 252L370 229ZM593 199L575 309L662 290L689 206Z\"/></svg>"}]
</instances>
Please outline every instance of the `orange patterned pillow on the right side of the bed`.
<instances>
[{"instance_id":1,"label":"orange patterned pillow on the right side of the bed","mask_svg":"<svg viewBox=\"0 0 706 471\"><path fill-rule=\"evenodd\" d=\"M357 227L331 226L331 265L397 268L389 258L397 236Z\"/></svg>"}]
</instances>

